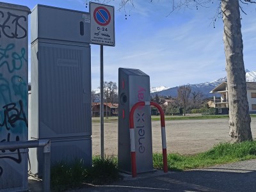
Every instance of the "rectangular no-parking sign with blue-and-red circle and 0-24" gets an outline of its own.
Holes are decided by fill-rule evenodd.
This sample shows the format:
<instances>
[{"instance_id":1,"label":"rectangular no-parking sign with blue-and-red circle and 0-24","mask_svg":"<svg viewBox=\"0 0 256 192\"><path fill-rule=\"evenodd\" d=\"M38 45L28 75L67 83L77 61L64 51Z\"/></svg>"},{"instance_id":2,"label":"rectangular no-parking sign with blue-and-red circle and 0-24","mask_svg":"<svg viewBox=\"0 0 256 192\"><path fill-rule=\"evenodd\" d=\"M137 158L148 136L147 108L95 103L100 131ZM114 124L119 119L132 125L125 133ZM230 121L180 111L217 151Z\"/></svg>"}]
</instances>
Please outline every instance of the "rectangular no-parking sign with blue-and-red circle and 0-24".
<instances>
[{"instance_id":1,"label":"rectangular no-parking sign with blue-and-red circle and 0-24","mask_svg":"<svg viewBox=\"0 0 256 192\"><path fill-rule=\"evenodd\" d=\"M90 2L91 44L115 46L114 7Z\"/></svg>"}]
</instances>

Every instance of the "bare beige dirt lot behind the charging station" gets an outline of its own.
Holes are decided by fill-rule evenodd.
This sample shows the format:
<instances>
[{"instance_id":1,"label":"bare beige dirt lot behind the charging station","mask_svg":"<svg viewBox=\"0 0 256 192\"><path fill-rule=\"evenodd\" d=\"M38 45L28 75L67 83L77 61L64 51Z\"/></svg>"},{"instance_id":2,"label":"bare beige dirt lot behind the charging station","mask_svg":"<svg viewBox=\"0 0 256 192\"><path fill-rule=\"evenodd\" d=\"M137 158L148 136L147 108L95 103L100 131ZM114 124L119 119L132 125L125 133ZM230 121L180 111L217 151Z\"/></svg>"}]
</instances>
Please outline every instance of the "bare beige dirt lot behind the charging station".
<instances>
[{"instance_id":1,"label":"bare beige dirt lot behind the charging station","mask_svg":"<svg viewBox=\"0 0 256 192\"><path fill-rule=\"evenodd\" d=\"M196 154L214 145L230 141L228 118L209 120L166 121L167 152ZM252 118L253 139L256 138L256 118ZM160 121L152 122L153 152L162 152ZM117 155L118 122L104 123L104 154ZM100 123L92 124L92 153L100 154Z\"/></svg>"}]
</instances>

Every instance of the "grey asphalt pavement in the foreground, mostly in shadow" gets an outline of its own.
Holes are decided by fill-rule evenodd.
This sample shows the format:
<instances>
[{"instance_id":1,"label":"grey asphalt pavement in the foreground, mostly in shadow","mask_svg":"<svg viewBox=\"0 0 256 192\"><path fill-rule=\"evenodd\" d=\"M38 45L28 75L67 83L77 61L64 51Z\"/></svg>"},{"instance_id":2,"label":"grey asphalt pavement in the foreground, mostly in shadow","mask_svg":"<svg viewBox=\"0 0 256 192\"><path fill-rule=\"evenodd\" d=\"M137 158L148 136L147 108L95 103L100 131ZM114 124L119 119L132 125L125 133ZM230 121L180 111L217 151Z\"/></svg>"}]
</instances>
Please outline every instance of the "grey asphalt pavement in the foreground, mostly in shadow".
<instances>
[{"instance_id":1,"label":"grey asphalt pavement in the foreground, mostly in shadow","mask_svg":"<svg viewBox=\"0 0 256 192\"><path fill-rule=\"evenodd\" d=\"M256 159L185 172L157 170L138 174L136 178L123 175L124 180L109 186L84 186L71 191L256 191ZM42 191L31 180L29 189Z\"/></svg>"}]
</instances>

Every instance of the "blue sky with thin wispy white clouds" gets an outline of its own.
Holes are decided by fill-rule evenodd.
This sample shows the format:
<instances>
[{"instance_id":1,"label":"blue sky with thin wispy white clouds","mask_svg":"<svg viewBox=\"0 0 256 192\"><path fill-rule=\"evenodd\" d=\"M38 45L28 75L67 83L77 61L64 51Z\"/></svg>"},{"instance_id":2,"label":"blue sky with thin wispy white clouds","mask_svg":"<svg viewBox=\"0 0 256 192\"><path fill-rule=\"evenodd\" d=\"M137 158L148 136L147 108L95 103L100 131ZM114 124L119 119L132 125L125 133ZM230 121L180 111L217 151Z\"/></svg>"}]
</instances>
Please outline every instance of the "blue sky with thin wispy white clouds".
<instances>
[{"instance_id":1,"label":"blue sky with thin wispy white clouds","mask_svg":"<svg viewBox=\"0 0 256 192\"><path fill-rule=\"evenodd\" d=\"M102 0L104 1L104 0ZM101 2L102 2L101 1ZM180 86L211 82L226 76L223 22L212 18L217 3L172 10L172 0L133 0L120 9L121 0L105 0L115 6L115 47L104 46L104 81L118 84L118 68L137 68L150 76L150 86ZM45 4L89 12L87 0L9 0L33 9ZM256 70L256 5L243 4L241 24L244 68ZM126 16L125 16L126 15ZM126 18L126 19L125 19ZM29 24L30 25L30 24ZM29 35L30 36L30 35ZM30 44L30 38L29 38ZM91 45L92 90L100 86L100 45ZM30 45L29 45L30 49ZM30 81L29 52L29 81Z\"/></svg>"}]
</instances>

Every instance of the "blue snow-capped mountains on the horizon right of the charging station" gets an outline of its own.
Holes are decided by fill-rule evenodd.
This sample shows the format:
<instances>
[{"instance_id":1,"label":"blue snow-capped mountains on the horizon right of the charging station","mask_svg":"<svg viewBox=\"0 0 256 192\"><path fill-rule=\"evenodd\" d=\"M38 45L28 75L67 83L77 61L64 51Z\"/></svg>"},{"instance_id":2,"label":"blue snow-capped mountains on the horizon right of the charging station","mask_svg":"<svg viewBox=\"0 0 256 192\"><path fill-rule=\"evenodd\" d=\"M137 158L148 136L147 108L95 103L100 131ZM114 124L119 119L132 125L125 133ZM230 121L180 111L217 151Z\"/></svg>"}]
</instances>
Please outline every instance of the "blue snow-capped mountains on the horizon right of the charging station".
<instances>
[{"instance_id":1,"label":"blue snow-capped mountains on the horizon right of the charging station","mask_svg":"<svg viewBox=\"0 0 256 192\"><path fill-rule=\"evenodd\" d=\"M223 81L227 81L227 77L222 77L220 79L217 79L211 82L205 82L205 83L199 83L199 84L186 84L186 85L189 85L191 87L191 92L200 92L200 93L203 93L204 97L213 97L214 94L209 92L211 92L211 90L216 88L216 86L221 84ZM246 69L246 82L256 82L256 70L250 71ZM151 88L152 96L157 94L159 96L177 97L177 90L179 86L166 88L166 89L165 88L166 87L164 86ZM158 90L158 91L154 91L154 90Z\"/></svg>"}]
</instances>

